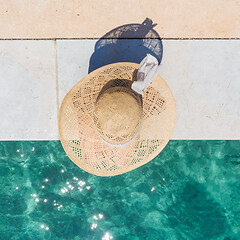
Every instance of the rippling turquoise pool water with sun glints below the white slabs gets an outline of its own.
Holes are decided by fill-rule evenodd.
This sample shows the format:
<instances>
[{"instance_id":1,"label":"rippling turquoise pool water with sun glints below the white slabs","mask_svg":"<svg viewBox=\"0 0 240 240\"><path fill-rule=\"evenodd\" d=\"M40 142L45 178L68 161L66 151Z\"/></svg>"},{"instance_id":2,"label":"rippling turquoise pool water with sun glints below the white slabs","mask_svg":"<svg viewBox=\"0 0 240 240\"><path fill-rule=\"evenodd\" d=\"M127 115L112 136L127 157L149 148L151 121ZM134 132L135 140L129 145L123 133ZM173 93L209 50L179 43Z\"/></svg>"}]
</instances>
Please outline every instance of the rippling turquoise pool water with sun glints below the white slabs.
<instances>
[{"instance_id":1,"label":"rippling turquoise pool water with sun glints below the white slabs","mask_svg":"<svg viewBox=\"0 0 240 240\"><path fill-rule=\"evenodd\" d=\"M0 142L0 239L240 239L240 141L170 141L109 178L59 141Z\"/></svg>"}]
</instances>

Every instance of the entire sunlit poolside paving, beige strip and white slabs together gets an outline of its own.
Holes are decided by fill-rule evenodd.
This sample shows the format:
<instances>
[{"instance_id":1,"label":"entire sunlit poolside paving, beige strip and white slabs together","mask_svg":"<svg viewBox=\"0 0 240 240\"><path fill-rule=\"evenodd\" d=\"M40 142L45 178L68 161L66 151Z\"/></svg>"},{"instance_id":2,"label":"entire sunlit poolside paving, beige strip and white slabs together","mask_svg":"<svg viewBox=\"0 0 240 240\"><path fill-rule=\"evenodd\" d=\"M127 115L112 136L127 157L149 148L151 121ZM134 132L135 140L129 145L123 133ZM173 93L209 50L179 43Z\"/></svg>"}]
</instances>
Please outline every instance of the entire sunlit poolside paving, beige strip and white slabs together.
<instances>
[{"instance_id":1,"label":"entire sunlit poolside paving, beige strip and white slabs together","mask_svg":"<svg viewBox=\"0 0 240 240\"><path fill-rule=\"evenodd\" d=\"M0 2L0 140L59 139L59 106L88 74L97 40L146 17L163 39L160 75L177 106L172 139L240 138L239 1ZM124 60L142 44L118 42Z\"/></svg>"}]
</instances>

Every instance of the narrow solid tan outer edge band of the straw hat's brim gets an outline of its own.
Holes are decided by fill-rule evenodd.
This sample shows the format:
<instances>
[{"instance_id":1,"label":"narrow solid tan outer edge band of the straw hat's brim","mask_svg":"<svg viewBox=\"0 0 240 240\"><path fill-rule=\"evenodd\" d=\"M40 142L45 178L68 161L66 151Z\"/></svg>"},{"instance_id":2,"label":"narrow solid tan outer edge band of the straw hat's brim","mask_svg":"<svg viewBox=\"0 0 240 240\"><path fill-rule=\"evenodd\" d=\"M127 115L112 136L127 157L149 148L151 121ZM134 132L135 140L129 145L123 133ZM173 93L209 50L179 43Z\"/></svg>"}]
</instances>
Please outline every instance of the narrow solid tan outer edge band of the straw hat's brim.
<instances>
[{"instance_id":1,"label":"narrow solid tan outer edge band of the straw hat's brim","mask_svg":"<svg viewBox=\"0 0 240 240\"><path fill-rule=\"evenodd\" d=\"M91 75L94 75L94 74L96 74L96 72L100 72L100 71L102 71L103 69L105 69L105 68L107 68L107 67L117 66L117 65L121 66L121 65L125 65L125 64L127 64L127 65L133 65L133 66L135 66L136 69L139 68L139 64L137 64L137 63L132 63L132 62L112 63L112 64L105 65L105 66L103 66L103 67L101 67L101 68L98 68L98 69L92 71L92 72L89 73L87 76L85 76L84 78L82 78L80 81L83 82L84 80L86 80L86 78L89 78ZM162 79L159 75L157 75L156 78ZM156 78L155 78L155 79L156 79ZM162 80L163 80L163 79L162 79ZM59 129L60 142L61 142L61 144L62 144L62 146L63 146L63 149L64 149L65 153L66 153L67 156L72 160L72 162L73 162L74 164L76 164L78 167L82 168L84 171L86 171L86 172L88 172L88 173L90 173L90 174L93 174L93 175L95 175L95 176L112 177L112 176L117 176L117 175L121 175L121 174L130 172L130 171L132 171L132 170L135 170L135 169L137 169L137 168L145 165L146 163L148 163L148 162L150 162L151 160L153 160L153 159L166 147L166 145L168 144L168 142L169 142L169 140L170 140L170 137L171 137L171 135L172 135L172 133L173 133L173 131L174 131L174 127L175 127L175 123L176 123L176 105L175 105L175 101L174 101L174 97L173 97L173 94L172 94L171 89L169 88L169 86L167 85L167 83L163 80L163 82L164 82L165 86L167 87L167 89L168 89L168 91L169 91L169 94L171 95L171 98L172 98L172 100L173 100L173 101L172 101L172 107L174 108L175 115L174 115L174 118L173 118L173 128L172 128L172 131L169 133L169 136L168 136L167 140L165 140L164 144L161 145L161 148L159 148L159 149L157 149L156 151L154 151L154 152L151 154L151 156L148 157L147 161L144 161L144 162L139 163L139 165L138 165L136 168L129 169L128 171L122 170L122 171L117 171L117 172L114 172L114 171L110 172L110 171L109 171L109 172L107 172L107 173L106 173L106 172L101 173L101 171L91 171L91 170L89 170L88 168L85 168L82 164L76 163L75 160L74 160L74 158L73 158L70 154L68 154L69 151L67 150L67 147L66 147L66 145L65 145L65 143L64 143L63 136L62 136L61 131L60 131L60 125L61 125L61 115L62 115L64 103L66 102L67 97L68 97L69 95L71 95L73 89L75 88L75 86L76 86L77 84L79 84L80 81L78 81L78 82L70 89L70 91L65 95L65 97L64 97L64 99L63 99L63 101L62 101L62 103L61 103L60 110L59 110L59 116L58 116L58 129ZM146 90L147 90L147 89L146 89ZM146 90L145 90L145 91L146 91ZM99 92L100 92L100 91L99 91ZM141 132L141 129L140 129L140 132ZM134 140L137 140L138 136L139 136L139 133L138 133L138 135L136 136L136 138L133 139L133 141L132 141L131 143L133 143ZM102 141L102 139L101 139L100 137L99 137L99 139ZM131 143L130 143L130 144L131 144ZM108 145L108 144L105 143L105 142L104 142L104 144ZM108 145L108 146L109 146L109 145ZM109 146L109 147L111 147L111 146ZM114 147L113 147L113 148L114 148ZM108 174L108 173L109 173L109 174Z\"/></svg>"}]
</instances>

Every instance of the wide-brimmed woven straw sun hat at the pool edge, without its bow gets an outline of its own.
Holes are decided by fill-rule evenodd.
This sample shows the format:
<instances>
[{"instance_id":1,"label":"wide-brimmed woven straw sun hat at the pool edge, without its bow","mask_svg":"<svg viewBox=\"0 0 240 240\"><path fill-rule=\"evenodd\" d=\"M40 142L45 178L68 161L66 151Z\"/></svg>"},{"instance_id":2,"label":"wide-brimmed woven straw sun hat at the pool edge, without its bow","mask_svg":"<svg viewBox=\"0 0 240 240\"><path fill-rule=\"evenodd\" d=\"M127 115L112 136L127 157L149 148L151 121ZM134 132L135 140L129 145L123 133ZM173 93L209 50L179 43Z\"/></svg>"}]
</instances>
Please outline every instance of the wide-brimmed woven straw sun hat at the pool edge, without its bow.
<instances>
[{"instance_id":1,"label":"wide-brimmed woven straw sun hat at the pool edge, without its bow","mask_svg":"<svg viewBox=\"0 0 240 240\"><path fill-rule=\"evenodd\" d=\"M175 124L175 104L157 75L142 97L131 89L139 64L114 63L79 81L65 96L59 135L69 158L98 176L126 173L156 157Z\"/></svg>"}]
</instances>

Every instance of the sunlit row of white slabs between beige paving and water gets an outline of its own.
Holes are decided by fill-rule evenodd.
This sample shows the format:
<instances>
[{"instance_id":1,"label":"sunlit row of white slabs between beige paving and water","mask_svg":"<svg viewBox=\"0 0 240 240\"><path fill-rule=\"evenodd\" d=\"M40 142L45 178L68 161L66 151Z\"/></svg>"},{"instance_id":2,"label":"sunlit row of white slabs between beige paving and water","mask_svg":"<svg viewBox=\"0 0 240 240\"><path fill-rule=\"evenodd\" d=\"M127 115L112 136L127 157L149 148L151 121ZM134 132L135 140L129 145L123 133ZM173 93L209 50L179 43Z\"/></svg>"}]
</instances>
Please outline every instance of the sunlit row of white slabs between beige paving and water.
<instances>
[{"instance_id":1,"label":"sunlit row of white slabs between beige paving and water","mask_svg":"<svg viewBox=\"0 0 240 240\"><path fill-rule=\"evenodd\" d=\"M88 74L95 44L0 41L0 140L58 139L59 106ZM171 139L239 139L240 41L164 40L163 49L160 76L177 107Z\"/></svg>"}]
</instances>

